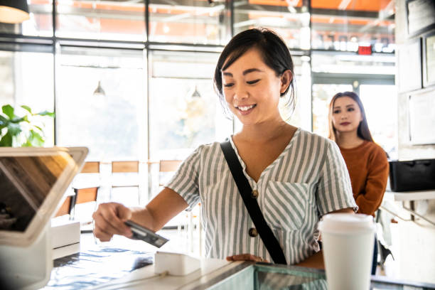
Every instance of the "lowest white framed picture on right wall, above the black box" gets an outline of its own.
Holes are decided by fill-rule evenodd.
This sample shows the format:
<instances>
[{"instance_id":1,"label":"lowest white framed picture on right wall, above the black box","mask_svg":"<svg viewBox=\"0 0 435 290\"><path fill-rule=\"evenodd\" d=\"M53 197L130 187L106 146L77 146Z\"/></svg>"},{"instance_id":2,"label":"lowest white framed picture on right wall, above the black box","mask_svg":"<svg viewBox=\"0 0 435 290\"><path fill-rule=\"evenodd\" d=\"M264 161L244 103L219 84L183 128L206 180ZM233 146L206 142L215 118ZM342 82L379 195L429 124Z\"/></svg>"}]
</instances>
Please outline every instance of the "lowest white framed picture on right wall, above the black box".
<instances>
[{"instance_id":1,"label":"lowest white framed picture on right wall, above the black box","mask_svg":"<svg viewBox=\"0 0 435 290\"><path fill-rule=\"evenodd\" d=\"M435 89L409 95L409 141L435 144Z\"/></svg>"}]
</instances>

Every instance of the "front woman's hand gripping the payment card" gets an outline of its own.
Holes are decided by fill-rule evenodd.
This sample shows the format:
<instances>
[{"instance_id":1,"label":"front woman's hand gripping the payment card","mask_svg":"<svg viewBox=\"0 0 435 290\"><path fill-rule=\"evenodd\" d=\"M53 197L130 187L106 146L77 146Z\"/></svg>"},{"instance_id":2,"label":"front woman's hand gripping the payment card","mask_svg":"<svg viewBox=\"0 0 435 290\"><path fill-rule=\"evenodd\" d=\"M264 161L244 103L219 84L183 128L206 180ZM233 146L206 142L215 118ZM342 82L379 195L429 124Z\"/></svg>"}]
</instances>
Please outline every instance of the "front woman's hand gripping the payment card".
<instances>
[{"instance_id":1,"label":"front woman's hand gripping the payment card","mask_svg":"<svg viewBox=\"0 0 435 290\"><path fill-rule=\"evenodd\" d=\"M102 203L92 214L94 235L102 242L108 242L113 235L131 237L130 227L124 224L131 219L131 210L120 203Z\"/></svg>"}]
</instances>

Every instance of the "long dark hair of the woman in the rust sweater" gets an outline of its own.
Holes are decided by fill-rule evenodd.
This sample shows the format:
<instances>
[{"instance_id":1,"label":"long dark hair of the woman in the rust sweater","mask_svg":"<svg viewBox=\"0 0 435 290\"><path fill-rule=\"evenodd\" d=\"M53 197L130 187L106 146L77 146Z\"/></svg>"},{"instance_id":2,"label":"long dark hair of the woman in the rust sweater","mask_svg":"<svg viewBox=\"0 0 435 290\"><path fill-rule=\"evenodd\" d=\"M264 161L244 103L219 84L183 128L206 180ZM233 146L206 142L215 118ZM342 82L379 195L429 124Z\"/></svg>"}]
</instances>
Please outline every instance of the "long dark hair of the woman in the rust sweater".
<instances>
[{"instance_id":1,"label":"long dark hair of the woman in the rust sweater","mask_svg":"<svg viewBox=\"0 0 435 290\"><path fill-rule=\"evenodd\" d=\"M329 103L329 114L328 114L328 123L329 123L329 139L336 141L336 131L332 122L332 114L333 114L333 107L334 102L339 97L350 97L352 100L354 100L358 107L360 107L361 116L363 117L363 120L358 125L357 134L358 137L361 139L373 142L372 134L370 134L370 130L368 129L367 124L367 118L365 117L365 110L363 107L363 102L361 102L360 97L358 97L355 92L339 92L338 94L335 94L335 96L332 98L331 102Z\"/></svg>"}]
</instances>

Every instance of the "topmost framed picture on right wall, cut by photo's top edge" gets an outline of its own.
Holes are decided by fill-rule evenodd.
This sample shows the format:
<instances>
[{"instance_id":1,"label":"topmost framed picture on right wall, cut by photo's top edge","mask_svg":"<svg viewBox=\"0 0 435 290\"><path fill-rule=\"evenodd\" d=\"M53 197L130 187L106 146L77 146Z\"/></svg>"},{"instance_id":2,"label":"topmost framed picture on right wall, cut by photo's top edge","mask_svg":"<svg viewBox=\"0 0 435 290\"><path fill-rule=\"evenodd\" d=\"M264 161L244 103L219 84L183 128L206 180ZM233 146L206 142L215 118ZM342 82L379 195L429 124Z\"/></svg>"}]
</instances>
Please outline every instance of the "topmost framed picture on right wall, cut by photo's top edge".
<instances>
[{"instance_id":1,"label":"topmost framed picture on right wall, cut by photo's top edge","mask_svg":"<svg viewBox=\"0 0 435 290\"><path fill-rule=\"evenodd\" d=\"M409 36L417 36L435 27L434 0L406 0Z\"/></svg>"}]
</instances>

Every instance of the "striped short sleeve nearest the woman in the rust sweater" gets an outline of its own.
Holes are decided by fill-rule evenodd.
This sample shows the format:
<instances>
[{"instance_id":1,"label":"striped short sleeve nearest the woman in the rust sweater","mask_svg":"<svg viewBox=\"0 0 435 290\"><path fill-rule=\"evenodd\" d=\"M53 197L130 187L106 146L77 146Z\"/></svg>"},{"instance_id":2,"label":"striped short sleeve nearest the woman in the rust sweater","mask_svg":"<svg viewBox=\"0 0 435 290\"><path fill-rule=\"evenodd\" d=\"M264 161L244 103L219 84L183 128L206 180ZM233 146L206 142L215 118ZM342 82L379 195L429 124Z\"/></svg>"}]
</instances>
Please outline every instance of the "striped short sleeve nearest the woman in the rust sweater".
<instances>
[{"instance_id":1,"label":"striped short sleeve nearest the woman in the rust sweater","mask_svg":"<svg viewBox=\"0 0 435 290\"><path fill-rule=\"evenodd\" d=\"M316 191L319 213L326 215L334 210L353 208L358 210L353 198L348 168L335 142L328 140L321 176Z\"/></svg>"}]
</instances>

